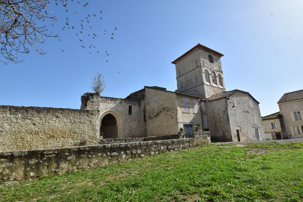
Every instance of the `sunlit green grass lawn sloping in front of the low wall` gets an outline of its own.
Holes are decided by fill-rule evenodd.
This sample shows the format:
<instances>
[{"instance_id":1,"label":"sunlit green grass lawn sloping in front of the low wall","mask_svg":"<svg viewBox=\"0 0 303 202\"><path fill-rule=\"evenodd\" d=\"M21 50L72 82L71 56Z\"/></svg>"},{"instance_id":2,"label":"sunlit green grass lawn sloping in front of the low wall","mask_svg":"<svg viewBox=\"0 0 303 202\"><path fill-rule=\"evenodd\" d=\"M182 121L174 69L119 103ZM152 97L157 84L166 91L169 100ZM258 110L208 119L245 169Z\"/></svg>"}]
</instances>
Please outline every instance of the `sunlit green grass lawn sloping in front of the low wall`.
<instances>
[{"instance_id":1,"label":"sunlit green grass lawn sloping in front of the low wall","mask_svg":"<svg viewBox=\"0 0 303 202\"><path fill-rule=\"evenodd\" d=\"M205 145L3 183L0 201L303 201L302 148L276 142Z\"/></svg>"}]
</instances>

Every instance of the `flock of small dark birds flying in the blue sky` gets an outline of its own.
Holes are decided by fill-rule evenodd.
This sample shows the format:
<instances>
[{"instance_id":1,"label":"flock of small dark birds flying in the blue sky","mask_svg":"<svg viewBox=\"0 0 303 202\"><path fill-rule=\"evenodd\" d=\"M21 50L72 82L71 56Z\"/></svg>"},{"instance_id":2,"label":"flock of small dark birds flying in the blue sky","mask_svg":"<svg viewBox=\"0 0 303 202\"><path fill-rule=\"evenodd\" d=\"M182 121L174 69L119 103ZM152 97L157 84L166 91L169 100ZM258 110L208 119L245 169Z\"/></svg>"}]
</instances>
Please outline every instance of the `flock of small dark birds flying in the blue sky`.
<instances>
[{"instance_id":1,"label":"flock of small dark birds flying in the blue sky","mask_svg":"<svg viewBox=\"0 0 303 202\"><path fill-rule=\"evenodd\" d=\"M55 1L58 1L58 0L55 0ZM67 6L68 6L68 1L67 0L60 0L61 2L62 2L62 6L65 8L65 12L66 13L69 13L69 11L67 10ZM71 0L72 2L74 2L74 0ZM81 3L78 1L77 2L77 4L80 4L81 5ZM56 2L55 3L55 5L56 6L58 6L58 3ZM88 2L84 2L84 4L83 4L83 7L87 7L88 6ZM51 13L53 13L53 10L52 9L50 9L49 10ZM47 12L45 11L45 14L47 14ZM74 11L73 12L73 15L76 15L77 14L77 12L76 11ZM103 12L102 12L102 10L100 10L100 13L99 13L99 15L102 15L103 14ZM103 18L102 18L102 16L98 16L98 17L100 17L100 20L103 20ZM83 18L83 19L81 19L81 22L79 23L79 25L80 26L78 26L78 28L77 28L77 26L75 26L75 25L72 25L71 23L70 23L70 20L68 19L68 17L66 17L66 20L65 20L65 25L64 26L62 26L62 30L63 31L66 31L66 30L68 30L68 29L70 29L71 31L72 30L75 30L76 31L76 29L79 29L79 31L76 31L76 32L74 32L74 34L77 36L77 37L79 37L79 43L81 44L81 48L83 48L83 49L87 49L88 50L88 53L89 54L92 54L92 52L95 52L95 53L98 53L99 54L99 50L97 51L97 46L96 45L93 45L94 44L94 42L85 42L85 39L83 39L82 38L82 36L85 36L85 35L87 35L92 41L94 41L94 39L96 39L97 37L98 37L98 33L96 33L96 32L93 32L93 26L90 24L90 18L97 18L97 15L96 14L92 14L92 15L90 15L90 14L88 14L86 17L85 17L85 19ZM56 20L56 19L55 19ZM51 19L51 21L52 21L52 23L54 23L54 20L53 19ZM85 26L85 24L87 24L88 26ZM52 24L52 26L54 26L54 24ZM89 27L89 28L88 28ZM113 28L113 30L112 31L110 31L110 32L107 32L106 30L104 30L104 32L103 32L103 35L104 36L106 36L107 34L108 35L110 35L111 36L111 39L112 40L114 40L114 36L115 36L115 34L114 34L114 32L115 31L117 31L117 28L115 27L115 26L113 26L114 28ZM88 31L86 30L86 29L88 29ZM86 31L86 33L85 33L85 31ZM98 35L97 35L98 34ZM61 39L58 39L59 41L61 41ZM80 47L80 45L79 45L79 47ZM62 53L64 53L64 50L62 49L61 50L62 51ZM74 53L77 53L76 51L74 51ZM109 54L108 54L108 51L106 51L105 50L105 54L107 55L107 56L109 56ZM106 62L108 62L108 60L106 60Z\"/></svg>"}]
</instances>

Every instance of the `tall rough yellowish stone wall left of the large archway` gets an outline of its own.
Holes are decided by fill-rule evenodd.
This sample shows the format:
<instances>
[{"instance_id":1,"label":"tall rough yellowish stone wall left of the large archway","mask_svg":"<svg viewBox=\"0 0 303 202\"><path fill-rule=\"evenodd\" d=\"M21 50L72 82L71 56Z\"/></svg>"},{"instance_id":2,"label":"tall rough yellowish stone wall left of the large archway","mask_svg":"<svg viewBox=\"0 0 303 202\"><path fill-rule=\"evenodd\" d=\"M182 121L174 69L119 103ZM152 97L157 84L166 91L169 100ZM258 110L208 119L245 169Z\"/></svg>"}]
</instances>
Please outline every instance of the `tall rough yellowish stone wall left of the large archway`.
<instances>
[{"instance_id":1,"label":"tall rough yellowish stone wall left of the large archway","mask_svg":"<svg viewBox=\"0 0 303 202\"><path fill-rule=\"evenodd\" d=\"M98 144L98 111L0 105L0 151Z\"/></svg>"}]
</instances>

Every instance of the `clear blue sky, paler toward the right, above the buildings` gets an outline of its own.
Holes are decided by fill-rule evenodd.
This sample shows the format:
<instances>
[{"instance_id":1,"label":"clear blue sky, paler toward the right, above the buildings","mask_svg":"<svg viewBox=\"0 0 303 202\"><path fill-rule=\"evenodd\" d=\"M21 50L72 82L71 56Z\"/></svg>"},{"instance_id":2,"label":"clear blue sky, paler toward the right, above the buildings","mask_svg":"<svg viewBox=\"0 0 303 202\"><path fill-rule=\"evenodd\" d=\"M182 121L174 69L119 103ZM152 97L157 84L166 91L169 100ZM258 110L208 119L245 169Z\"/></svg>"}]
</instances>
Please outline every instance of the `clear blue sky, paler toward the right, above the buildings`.
<instances>
[{"instance_id":1,"label":"clear blue sky, paler toward the right, above the buildings","mask_svg":"<svg viewBox=\"0 0 303 202\"><path fill-rule=\"evenodd\" d=\"M144 86L175 91L171 61L198 43L224 54L226 91L248 91L262 116L279 111L284 93L303 89L303 1L85 1L69 1L68 12L51 1L57 21L43 25L60 38L45 38L45 55L0 64L0 105L79 109L97 71L107 84L102 96L125 98Z\"/></svg>"}]
</instances>

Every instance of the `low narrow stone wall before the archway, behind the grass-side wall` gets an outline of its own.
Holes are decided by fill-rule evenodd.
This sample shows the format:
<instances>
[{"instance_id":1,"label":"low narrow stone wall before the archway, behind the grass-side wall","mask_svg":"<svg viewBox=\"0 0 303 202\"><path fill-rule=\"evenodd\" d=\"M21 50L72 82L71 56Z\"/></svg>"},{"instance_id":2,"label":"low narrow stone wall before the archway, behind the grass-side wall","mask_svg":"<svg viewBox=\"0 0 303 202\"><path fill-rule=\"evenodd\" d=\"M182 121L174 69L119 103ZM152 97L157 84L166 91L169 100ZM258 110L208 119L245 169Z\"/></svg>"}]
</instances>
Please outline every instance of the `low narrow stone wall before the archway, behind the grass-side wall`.
<instances>
[{"instance_id":1,"label":"low narrow stone wall before the archway, behind the grass-side wall","mask_svg":"<svg viewBox=\"0 0 303 202\"><path fill-rule=\"evenodd\" d=\"M128 143L128 142L145 142L145 141L171 140L171 139L178 139L178 134L152 136L152 137L101 139L99 144L118 144L118 143Z\"/></svg>"}]
</instances>

